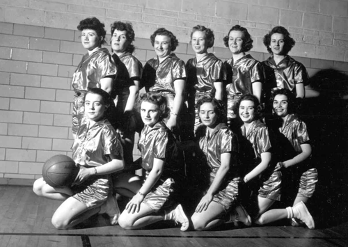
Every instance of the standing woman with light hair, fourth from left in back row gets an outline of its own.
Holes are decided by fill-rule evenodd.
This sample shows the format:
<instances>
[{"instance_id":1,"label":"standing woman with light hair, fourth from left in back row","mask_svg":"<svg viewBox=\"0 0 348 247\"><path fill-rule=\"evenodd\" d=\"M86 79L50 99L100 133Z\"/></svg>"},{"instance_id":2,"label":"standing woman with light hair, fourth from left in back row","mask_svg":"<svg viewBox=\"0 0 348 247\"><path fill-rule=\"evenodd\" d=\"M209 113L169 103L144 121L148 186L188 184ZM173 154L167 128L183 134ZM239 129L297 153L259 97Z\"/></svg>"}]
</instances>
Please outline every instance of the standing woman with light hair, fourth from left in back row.
<instances>
[{"instance_id":1,"label":"standing woman with light hair, fourth from left in back row","mask_svg":"<svg viewBox=\"0 0 348 247\"><path fill-rule=\"evenodd\" d=\"M200 125L198 99L214 97L223 100L223 82L226 81L226 69L222 61L207 49L214 46L214 33L205 26L194 26L191 32L191 45L195 58L187 61L187 93L189 112L195 111L194 129Z\"/></svg>"}]
</instances>

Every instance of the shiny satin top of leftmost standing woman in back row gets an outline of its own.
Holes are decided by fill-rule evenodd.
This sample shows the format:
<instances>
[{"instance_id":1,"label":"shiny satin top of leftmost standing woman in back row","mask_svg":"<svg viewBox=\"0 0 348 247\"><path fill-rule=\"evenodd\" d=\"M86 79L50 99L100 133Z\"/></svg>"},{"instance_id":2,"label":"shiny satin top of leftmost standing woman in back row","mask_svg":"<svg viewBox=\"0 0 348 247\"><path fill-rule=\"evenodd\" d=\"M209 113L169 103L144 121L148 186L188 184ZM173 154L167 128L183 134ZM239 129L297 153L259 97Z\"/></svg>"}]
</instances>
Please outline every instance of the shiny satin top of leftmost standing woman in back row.
<instances>
[{"instance_id":1,"label":"shiny satin top of leftmost standing woman in back row","mask_svg":"<svg viewBox=\"0 0 348 247\"><path fill-rule=\"evenodd\" d=\"M100 48L93 54L85 54L72 77L74 90L87 91L89 88L100 88L100 79L114 77L117 73L115 63L106 48Z\"/></svg>"}]
</instances>

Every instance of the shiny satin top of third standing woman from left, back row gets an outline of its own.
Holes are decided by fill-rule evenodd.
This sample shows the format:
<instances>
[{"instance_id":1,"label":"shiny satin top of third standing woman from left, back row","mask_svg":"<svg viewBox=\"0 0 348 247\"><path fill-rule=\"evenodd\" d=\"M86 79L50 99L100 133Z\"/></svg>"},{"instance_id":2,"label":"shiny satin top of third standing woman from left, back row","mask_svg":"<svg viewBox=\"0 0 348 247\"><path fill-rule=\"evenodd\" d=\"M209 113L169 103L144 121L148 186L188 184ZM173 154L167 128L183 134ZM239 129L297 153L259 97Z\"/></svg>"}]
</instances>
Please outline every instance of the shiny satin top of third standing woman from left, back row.
<instances>
[{"instance_id":1,"label":"shiny satin top of third standing woman from left, back row","mask_svg":"<svg viewBox=\"0 0 348 247\"><path fill-rule=\"evenodd\" d=\"M186 77L184 61L172 53L161 63L159 63L158 58L152 58L145 64L142 86L145 86L150 91L175 94L174 81L176 79L184 79L186 81Z\"/></svg>"}]
</instances>

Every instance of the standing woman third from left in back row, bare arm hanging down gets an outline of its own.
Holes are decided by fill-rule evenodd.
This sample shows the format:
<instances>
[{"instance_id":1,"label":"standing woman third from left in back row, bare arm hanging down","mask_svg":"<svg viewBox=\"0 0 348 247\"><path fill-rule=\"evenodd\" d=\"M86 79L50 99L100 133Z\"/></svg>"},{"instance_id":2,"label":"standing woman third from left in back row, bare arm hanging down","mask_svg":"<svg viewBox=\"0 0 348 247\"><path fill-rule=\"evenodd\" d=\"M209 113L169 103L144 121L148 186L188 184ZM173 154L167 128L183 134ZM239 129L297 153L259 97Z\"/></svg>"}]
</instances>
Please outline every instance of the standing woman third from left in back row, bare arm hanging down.
<instances>
[{"instance_id":1,"label":"standing woman third from left in back row, bare arm hanging down","mask_svg":"<svg viewBox=\"0 0 348 247\"><path fill-rule=\"evenodd\" d=\"M157 29L150 40L157 56L145 64L142 86L145 86L146 92L166 95L171 113L165 122L168 129L173 130L178 127L178 118L184 102L187 77L185 63L172 52L179 42L171 31L164 28Z\"/></svg>"}]
</instances>

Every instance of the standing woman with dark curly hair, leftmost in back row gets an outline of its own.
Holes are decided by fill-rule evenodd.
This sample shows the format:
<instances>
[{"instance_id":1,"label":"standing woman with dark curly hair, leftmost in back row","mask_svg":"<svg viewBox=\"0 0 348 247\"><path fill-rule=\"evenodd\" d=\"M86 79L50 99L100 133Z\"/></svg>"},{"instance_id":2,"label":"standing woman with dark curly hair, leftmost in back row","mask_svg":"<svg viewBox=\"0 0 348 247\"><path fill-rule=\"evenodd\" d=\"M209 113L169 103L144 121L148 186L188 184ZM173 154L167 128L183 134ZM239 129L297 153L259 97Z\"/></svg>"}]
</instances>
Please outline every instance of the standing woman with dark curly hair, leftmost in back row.
<instances>
[{"instance_id":1,"label":"standing woman with dark curly hair, leftmost in back row","mask_svg":"<svg viewBox=\"0 0 348 247\"><path fill-rule=\"evenodd\" d=\"M81 42L87 50L72 77L74 102L72 109L72 134L76 137L77 129L84 118L84 96L90 88L102 88L111 93L116 65L111 55L102 44L106 44L104 24L92 17L81 20L77 29L81 31Z\"/></svg>"}]
</instances>

